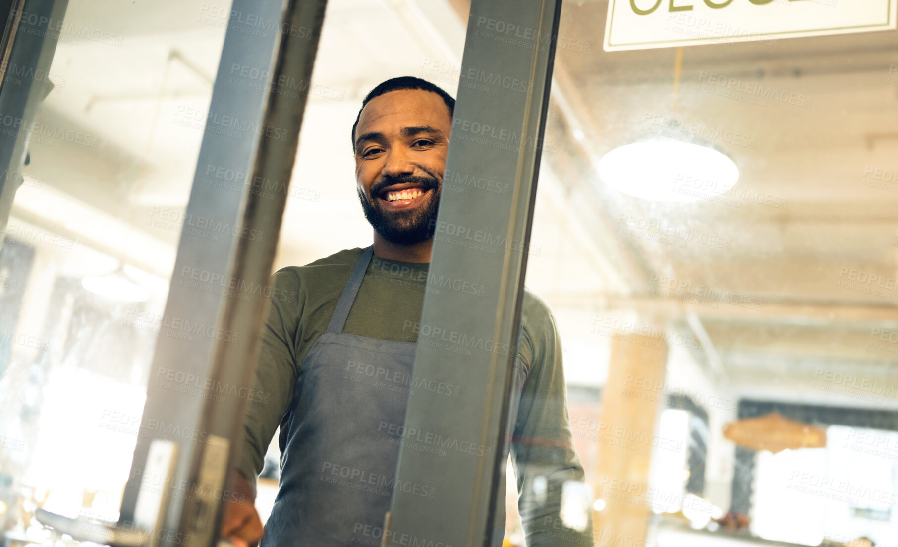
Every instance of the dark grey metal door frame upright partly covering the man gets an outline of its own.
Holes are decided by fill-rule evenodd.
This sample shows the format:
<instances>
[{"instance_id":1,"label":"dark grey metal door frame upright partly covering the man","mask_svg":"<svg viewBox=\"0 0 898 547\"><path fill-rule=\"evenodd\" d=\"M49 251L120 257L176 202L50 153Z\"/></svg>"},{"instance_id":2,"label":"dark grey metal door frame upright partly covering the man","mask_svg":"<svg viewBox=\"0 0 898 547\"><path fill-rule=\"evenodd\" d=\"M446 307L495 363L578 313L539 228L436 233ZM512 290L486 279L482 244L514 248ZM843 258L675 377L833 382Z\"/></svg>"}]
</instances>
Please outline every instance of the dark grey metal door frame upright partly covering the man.
<instances>
[{"instance_id":1,"label":"dark grey metal door frame upright partly covering the man","mask_svg":"<svg viewBox=\"0 0 898 547\"><path fill-rule=\"evenodd\" d=\"M436 495L394 490L383 546L401 537L498 545L505 533L497 516L505 515L515 354L560 10L561 0L471 3L412 376L412 385L458 385L460 397L413 391L404 431L479 446L472 457L401 443L396 483L426 484ZM484 90L481 75L525 85ZM509 191L462 187L470 177ZM441 289L441 278L483 290Z\"/></svg>"}]
</instances>

